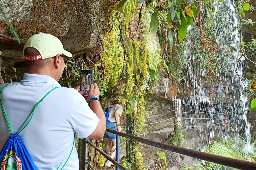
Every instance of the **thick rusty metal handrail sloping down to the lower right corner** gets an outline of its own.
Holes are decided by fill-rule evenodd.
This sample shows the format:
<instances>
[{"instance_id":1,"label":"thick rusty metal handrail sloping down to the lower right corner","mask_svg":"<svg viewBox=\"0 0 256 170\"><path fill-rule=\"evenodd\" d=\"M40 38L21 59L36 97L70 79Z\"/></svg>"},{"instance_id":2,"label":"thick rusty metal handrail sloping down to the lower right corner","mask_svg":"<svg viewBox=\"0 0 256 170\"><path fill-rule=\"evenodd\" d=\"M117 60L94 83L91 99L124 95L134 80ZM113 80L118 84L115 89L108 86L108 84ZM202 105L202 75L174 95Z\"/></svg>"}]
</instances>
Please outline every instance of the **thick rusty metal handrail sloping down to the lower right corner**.
<instances>
[{"instance_id":1,"label":"thick rusty metal handrail sloping down to the lower right corner","mask_svg":"<svg viewBox=\"0 0 256 170\"><path fill-rule=\"evenodd\" d=\"M223 157L223 156L218 156L218 155L200 152L200 151L196 151L196 150L192 150L192 149L182 148L179 146L169 145L166 143L156 142L156 141L152 141L152 140L141 138L138 136L133 136L130 134L114 131L114 130L107 129L107 128L106 128L106 131L111 132L116 135L119 135L119 136L123 136L125 138L129 138L129 139L144 143L144 144L155 146L155 147L158 147L158 148L161 148L164 150L169 150L172 152L180 153L180 154L191 156L191 157L198 158L198 159L203 159L203 160L214 162L217 164L221 164L221 165L225 165L225 166L229 166L229 167L233 167L233 168L238 168L238 169L243 169L243 170L255 170L256 169L256 163L239 160L239 159Z\"/></svg>"}]
</instances>

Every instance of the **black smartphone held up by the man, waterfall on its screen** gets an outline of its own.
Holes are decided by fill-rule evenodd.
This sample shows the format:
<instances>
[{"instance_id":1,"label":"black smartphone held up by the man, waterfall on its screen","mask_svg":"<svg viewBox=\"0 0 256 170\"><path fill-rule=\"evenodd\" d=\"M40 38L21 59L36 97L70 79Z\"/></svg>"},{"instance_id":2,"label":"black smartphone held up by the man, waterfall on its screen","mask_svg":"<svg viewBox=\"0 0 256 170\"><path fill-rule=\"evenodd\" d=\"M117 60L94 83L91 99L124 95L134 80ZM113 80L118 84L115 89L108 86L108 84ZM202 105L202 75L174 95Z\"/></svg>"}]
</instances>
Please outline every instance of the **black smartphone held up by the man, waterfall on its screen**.
<instances>
[{"instance_id":1,"label":"black smartphone held up by the man, waterfall on its screen","mask_svg":"<svg viewBox=\"0 0 256 170\"><path fill-rule=\"evenodd\" d=\"M80 90L86 91L88 96L88 91L90 90L90 85L93 83L93 71L92 70L81 70L80 72Z\"/></svg>"}]
</instances>

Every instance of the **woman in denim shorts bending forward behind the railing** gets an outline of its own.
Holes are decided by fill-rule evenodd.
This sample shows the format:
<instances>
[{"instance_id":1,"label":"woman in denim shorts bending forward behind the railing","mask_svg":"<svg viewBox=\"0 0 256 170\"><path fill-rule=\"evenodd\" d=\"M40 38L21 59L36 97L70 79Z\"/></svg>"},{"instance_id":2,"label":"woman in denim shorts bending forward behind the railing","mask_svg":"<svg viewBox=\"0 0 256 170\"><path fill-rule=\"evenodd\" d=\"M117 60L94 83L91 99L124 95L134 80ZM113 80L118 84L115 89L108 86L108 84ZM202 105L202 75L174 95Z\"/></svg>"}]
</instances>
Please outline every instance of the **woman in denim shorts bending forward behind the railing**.
<instances>
[{"instance_id":1,"label":"woman in denim shorts bending forward behind the railing","mask_svg":"<svg viewBox=\"0 0 256 170\"><path fill-rule=\"evenodd\" d=\"M112 128L120 124L120 117L123 113L123 103L120 102L118 99L114 100L111 103L111 106L108 107L109 110L109 116L106 121L106 128ZM119 125L116 128L112 128L112 130L118 129L118 131L122 131L121 126ZM112 150L116 148L116 135L110 132L105 132L103 139L106 141L106 146L105 146L105 153L109 153ZM112 147L111 147L112 144ZM110 154L111 158L115 157L116 152L113 152ZM107 166L111 166L113 164L110 161L107 161Z\"/></svg>"}]
</instances>

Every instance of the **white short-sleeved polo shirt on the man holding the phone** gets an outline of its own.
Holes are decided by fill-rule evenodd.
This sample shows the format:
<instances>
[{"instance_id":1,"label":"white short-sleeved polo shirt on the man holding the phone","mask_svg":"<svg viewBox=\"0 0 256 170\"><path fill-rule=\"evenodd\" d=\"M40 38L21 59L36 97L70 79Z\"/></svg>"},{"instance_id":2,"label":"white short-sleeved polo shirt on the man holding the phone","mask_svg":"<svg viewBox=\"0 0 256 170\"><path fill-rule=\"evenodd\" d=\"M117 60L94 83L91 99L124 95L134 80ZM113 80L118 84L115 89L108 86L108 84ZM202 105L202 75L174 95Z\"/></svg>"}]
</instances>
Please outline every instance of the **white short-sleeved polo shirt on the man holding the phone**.
<instances>
[{"instance_id":1,"label":"white short-sleeved polo shirt on the man holding the phone","mask_svg":"<svg viewBox=\"0 0 256 170\"><path fill-rule=\"evenodd\" d=\"M30 115L35 104L60 84L50 76L24 74L24 79L6 86L2 92L3 106L13 133ZM97 127L98 117L83 96L73 88L53 90L36 108L29 125L20 132L38 170L56 170L66 162L74 140L88 137ZM10 136L0 109L0 150ZM62 165L60 167L62 167ZM78 170L78 154L73 152L63 168Z\"/></svg>"}]
</instances>

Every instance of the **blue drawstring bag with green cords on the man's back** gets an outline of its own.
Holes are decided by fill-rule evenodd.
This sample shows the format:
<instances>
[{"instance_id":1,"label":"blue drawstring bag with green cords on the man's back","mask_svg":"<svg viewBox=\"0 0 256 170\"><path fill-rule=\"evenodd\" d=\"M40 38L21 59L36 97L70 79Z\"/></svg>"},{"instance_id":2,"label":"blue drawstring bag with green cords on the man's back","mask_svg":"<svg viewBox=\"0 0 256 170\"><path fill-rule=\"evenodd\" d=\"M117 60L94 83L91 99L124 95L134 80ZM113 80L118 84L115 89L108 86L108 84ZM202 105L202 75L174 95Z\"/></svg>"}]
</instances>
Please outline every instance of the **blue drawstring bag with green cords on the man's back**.
<instances>
[{"instance_id":1,"label":"blue drawstring bag with green cords on the man's back","mask_svg":"<svg viewBox=\"0 0 256 170\"><path fill-rule=\"evenodd\" d=\"M50 90L39 102L36 103L34 110L32 113L28 116L26 121L23 123L23 125L19 128L16 134L12 133L12 130L10 128L8 119L6 117L6 113L3 107L2 103L2 91L4 87L6 87L8 84L4 85L0 92L0 101L1 101L1 107L3 110L4 118L6 120L7 126L10 131L10 137L8 138L7 142L5 143L4 147L2 148L0 152L0 170L37 170L24 142L22 141L21 137L19 136L19 133L28 126L29 122L31 121L34 111L38 104L43 101L43 99L51 93L54 89L58 88L55 87L52 90ZM26 125L25 125L26 124ZM25 126L24 126L25 125ZM75 137L74 137L75 142ZM73 142L73 146L74 146ZM73 150L73 147L72 147ZM72 153L72 150L70 152L70 155ZM69 157L70 157L69 155ZM68 157L68 159L69 159ZM67 161L68 161L67 159ZM62 160L63 161L63 160ZM65 164L67 163L65 162ZM62 162L61 162L62 163ZM60 165L61 165L60 163ZM63 165L63 167L65 166ZM59 167L60 167L59 165ZM59 167L57 169L59 169ZM63 169L63 167L61 169Z\"/></svg>"}]
</instances>

